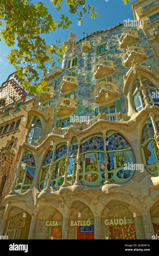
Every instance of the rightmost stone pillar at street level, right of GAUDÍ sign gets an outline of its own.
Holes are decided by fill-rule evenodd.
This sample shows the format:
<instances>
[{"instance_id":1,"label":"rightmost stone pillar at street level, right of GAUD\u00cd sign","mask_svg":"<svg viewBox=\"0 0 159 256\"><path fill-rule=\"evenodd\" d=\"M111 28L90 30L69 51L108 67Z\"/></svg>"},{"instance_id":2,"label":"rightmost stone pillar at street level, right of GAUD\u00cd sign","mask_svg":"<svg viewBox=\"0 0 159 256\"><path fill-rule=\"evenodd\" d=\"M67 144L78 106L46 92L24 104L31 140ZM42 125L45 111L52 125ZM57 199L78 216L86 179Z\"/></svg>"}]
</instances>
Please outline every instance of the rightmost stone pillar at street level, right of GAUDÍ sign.
<instances>
[{"instance_id":1,"label":"rightmost stone pillar at street level, right of GAUD\u00cd sign","mask_svg":"<svg viewBox=\"0 0 159 256\"><path fill-rule=\"evenodd\" d=\"M142 215L142 217L143 217L145 238L146 239L152 239L152 235L154 235L154 229L153 229L153 224L152 224L152 221L151 221L151 216L150 216L149 213L144 213Z\"/></svg>"}]
</instances>

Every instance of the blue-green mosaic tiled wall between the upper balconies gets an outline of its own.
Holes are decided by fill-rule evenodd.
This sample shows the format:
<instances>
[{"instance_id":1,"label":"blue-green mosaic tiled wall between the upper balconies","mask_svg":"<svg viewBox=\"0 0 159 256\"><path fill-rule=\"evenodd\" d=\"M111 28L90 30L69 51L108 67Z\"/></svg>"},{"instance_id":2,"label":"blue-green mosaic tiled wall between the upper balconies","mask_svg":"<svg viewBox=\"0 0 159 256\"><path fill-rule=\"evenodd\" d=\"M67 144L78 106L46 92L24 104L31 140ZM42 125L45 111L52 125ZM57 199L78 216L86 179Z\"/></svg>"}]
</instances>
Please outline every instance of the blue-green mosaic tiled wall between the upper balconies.
<instances>
[{"instance_id":1,"label":"blue-green mosaic tiled wall between the upper balconies","mask_svg":"<svg viewBox=\"0 0 159 256\"><path fill-rule=\"evenodd\" d=\"M121 34L123 30L125 29L131 29L131 27L124 27L123 24L116 26L113 29L98 32L97 36L102 36L102 42L108 42L109 44L109 50L102 56L97 57L96 56L96 46L99 45L99 40L97 40L94 36L88 36L88 40L91 42L91 50L88 53L83 53L81 50L81 46L83 43L83 39L79 40L75 46L74 46L74 53L72 54L71 51L67 52L63 64L62 64L62 74L60 76L55 77L56 80L56 87L55 91L56 94L52 99L52 104L55 104L60 97L60 82L62 80L62 77L64 75L70 74L71 71L77 70L77 81L78 86L75 88L75 95L74 99L77 102L77 108L74 111L73 114L77 116L85 116L88 115L90 118L95 116L95 107L98 106L98 104L95 102L95 96L93 94L94 88L97 85L97 79L94 78L94 66L97 63L97 60L102 59L106 56L110 56L111 61L113 61L115 71L113 72L113 81L115 84L118 85L119 88L119 98L121 100L122 105L122 112L123 114L126 113L125 108L125 102L123 97L123 75L127 73L129 68L125 68L122 64L123 60L123 49L119 48L118 43L118 34ZM146 66L154 66L157 64L156 57L154 56L154 53L151 49L151 46L146 39L145 34L143 33L143 30L140 29L138 31L140 40L137 43L139 47L144 47L145 53L147 55L147 59L144 61ZM71 59L73 57L78 56L78 63L77 66L75 66L71 70L67 70L67 60ZM54 111L54 121L53 125L56 124L57 115L56 115L56 107Z\"/></svg>"}]
</instances>

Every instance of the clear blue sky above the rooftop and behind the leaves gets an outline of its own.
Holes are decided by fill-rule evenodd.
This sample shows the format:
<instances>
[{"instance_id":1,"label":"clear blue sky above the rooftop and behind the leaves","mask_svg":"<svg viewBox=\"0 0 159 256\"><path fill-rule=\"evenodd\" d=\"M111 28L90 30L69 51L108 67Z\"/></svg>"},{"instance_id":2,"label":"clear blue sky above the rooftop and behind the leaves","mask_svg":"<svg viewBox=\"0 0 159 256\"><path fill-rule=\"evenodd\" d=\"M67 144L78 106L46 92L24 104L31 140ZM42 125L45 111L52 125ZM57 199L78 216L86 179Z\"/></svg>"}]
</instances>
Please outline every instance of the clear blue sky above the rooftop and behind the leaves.
<instances>
[{"instance_id":1,"label":"clear blue sky above the rooftop and behind the leaves","mask_svg":"<svg viewBox=\"0 0 159 256\"><path fill-rule=\"evenodd\" d=\"M62 1L62 10L57 11L56 8L51 4L50 0L32 0L34 4L38 2L43 2L48 8L49 13L52 15L55 21L60 21L59 17L63 13L68 16L69 20L72 21L72 24L68 29L58 29L55 32L51 32L47 35L43 35L47 44L51 45L56 43L56 40L59 40L61 43L68 40L69 33L76 34L76 41L80 38L83 38L83 32L94 32L99 30L105 30L123 23L124 20L130 19L134 20L133 11L131 8L131 3L134 0L131 0L127 5L124 5L123 0L86 0L86 3L93 6L97 13L96 19L92 19L90 14L84 15L83 25L78 26L78 17L76 14L71 14L68 12L68 7L66 0ZM8 47L5 45L5 41L0 42L0 86L3 82L6 81L9 74L15 71L14 67L9 64L6 56L10 54L11 49L14 47ZM61 66L58 62L57 66ZM40 74L40 77L42 74Z\"/></svg>"}]
</instances>

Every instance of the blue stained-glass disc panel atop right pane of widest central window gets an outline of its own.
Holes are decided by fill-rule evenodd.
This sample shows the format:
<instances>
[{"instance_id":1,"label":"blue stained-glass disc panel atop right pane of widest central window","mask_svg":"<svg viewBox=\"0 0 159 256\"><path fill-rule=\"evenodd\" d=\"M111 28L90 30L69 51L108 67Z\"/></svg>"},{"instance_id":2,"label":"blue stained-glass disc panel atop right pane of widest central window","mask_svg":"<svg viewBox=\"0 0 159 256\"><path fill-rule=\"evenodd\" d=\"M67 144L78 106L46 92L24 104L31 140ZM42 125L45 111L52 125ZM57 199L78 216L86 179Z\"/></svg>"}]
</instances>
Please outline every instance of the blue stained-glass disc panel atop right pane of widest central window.
<instances>
[{"instance_id":1,"label":"blue stained-glass disc panel atop right pane of widest central window","mask_svg":"<svg viewBox=\"0 0 159 256\"><path fill-rule=\"evenodd\" d=\"M107 141L107 151L128 149L130 147L129 143L119 133L112 134L107 138Z\"/></svg>"}]
</instances>

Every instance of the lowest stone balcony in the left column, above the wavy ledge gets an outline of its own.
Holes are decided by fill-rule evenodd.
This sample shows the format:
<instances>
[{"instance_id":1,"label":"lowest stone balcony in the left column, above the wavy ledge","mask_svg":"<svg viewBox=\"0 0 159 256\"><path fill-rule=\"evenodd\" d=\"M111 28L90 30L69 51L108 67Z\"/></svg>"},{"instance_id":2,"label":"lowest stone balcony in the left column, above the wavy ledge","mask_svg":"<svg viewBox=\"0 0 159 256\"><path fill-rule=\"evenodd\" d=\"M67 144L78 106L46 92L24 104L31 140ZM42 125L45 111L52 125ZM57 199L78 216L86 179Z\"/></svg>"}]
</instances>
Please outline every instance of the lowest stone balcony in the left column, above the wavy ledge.
<instances>
[{"instance_id":1,"label":"lowest stone balcony in the left column, above the wavy ledge","mask_svg":"<svg viewBox=\"0 0 159 256\"><path fill-rule=\"evenodd\" d=\"M61 97L56 104L57 116L71 115L76 110L76 104L76 101L73 99Z\"/></svg>"}]
</instances>

